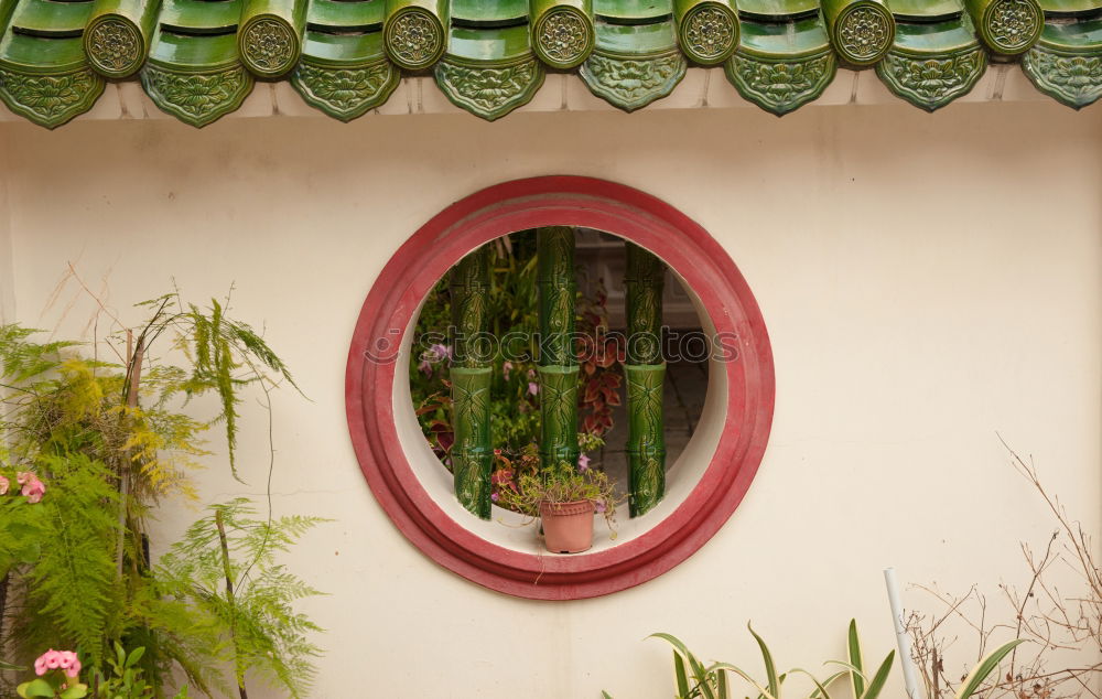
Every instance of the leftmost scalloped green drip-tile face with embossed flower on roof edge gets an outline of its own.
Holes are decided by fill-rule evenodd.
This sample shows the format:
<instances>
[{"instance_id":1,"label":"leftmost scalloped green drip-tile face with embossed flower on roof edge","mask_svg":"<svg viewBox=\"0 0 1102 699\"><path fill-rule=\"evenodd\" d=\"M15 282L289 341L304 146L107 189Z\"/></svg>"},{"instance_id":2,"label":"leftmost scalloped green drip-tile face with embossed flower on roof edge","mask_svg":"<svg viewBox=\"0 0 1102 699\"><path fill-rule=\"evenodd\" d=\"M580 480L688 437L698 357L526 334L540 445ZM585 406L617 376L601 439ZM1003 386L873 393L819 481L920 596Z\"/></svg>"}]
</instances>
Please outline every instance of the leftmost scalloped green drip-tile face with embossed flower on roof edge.
<instances>
[{"instance_id":1,"label":"leftmost scalloped green drip-tile face with embossed flower on roof edge","mask_svg":"<svg viewBox=\"0 0 1102 699\"><path fill-rule=\"evenodd\" d=\"M15 114L53 129L84 114L104 92L104 78L87 67L36 74L0 66L0 99Z\"/></svg>"}]
</instances>

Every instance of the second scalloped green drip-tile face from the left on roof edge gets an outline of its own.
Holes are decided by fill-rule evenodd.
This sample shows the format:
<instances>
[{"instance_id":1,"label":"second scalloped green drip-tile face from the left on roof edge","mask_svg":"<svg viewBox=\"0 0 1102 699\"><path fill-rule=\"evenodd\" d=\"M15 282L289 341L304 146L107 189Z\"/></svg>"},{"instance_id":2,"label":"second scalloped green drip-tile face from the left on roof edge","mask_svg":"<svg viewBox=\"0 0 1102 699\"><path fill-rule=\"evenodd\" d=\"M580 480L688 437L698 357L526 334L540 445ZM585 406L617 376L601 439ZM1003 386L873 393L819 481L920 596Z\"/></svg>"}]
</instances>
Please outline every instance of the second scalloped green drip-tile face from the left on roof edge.
<instances>
[{"instance_id":1,"label":"second scalloped green drip-tile face from the left on roof edge","mask_svg":"<svg viewBox=\"0 0 1102 699\"><path fill-rule=\"evenodd\" d=\"M194 127L204 127L234 111L252 92L252 75L241 65L209 73L182 73L147 64L140 75L153 104Z\"/></svg>"}]
</instances>

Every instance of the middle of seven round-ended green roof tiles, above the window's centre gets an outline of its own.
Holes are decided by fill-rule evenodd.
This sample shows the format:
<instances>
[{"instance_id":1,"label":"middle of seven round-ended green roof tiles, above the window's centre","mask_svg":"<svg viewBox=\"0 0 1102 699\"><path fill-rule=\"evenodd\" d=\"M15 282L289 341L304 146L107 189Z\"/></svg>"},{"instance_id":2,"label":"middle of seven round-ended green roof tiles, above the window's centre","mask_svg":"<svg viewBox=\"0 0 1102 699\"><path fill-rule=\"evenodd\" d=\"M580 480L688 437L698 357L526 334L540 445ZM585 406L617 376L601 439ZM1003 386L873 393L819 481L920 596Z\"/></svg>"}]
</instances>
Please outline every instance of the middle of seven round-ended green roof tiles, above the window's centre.
<instances>
[{"instance_id":1,"label":"middle of seven round-ended green roof tiles, above the window's centre","mask_svg":"<svg viewBox=\"0 0 1102 699\"><path fill-rule=\"evenodd\" d=\"M530 0L532 51L553 68L581 65L593 53L592 0Z\"/></svg>"}]
</instances>

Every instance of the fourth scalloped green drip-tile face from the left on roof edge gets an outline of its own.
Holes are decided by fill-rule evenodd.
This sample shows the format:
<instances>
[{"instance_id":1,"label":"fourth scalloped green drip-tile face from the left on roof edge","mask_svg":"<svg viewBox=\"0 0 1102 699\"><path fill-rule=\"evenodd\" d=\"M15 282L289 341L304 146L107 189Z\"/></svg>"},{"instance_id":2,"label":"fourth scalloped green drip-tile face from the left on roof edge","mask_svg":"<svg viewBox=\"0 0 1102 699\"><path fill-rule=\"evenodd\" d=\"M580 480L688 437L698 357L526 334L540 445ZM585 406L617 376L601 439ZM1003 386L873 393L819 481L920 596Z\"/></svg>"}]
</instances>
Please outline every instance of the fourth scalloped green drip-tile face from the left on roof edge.
<instances>
[{"instance_id":1,"label":"fourth scalloped green drip-tile face from the left on roof edge","mask_svg":"<svg viewBox=\"0 0 1102 699\"><path fill-rule=\"evenodd\" d=\"M445 57L435 74L436 85L455 106L488 121L527 104L543 85L543 66L534 58L487 67Z\"/></svg>"}]
</instances>

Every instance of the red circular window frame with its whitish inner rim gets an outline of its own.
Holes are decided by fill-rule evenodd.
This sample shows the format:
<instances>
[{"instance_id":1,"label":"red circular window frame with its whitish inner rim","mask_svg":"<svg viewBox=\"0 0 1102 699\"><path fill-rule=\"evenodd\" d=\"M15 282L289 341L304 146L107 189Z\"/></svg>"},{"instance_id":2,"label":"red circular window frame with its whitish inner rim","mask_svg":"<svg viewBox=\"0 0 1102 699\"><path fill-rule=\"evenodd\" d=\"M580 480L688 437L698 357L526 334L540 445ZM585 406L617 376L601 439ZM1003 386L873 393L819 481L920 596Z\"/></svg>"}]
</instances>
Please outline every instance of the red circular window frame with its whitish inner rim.
<instances>
[{"instance_id":1,"label":"red circular window frame with its whitish inner rim","mask_svg":"<svg viewBox=\"0 0 1102 699\"><path fill-rule=\"evenodd\" d=\"M456 498L452 474L425 442L410 402L413 327L441 278L495 238L551 227L607 232L665 262L695 295L713 342L701 424L670 471L666 497L623 521L616 540L571 556L541 555L531 529L472 514L478 507ZM646 582L703 546L749 487L765 452L773 404L765 324L722 246L652 196L570 176L489 187L418 230L364 303L346 377L348 424L360 467L398 528L426 556L468 580L548 600L597 596Z\"/></svg>"}]
</instances>

